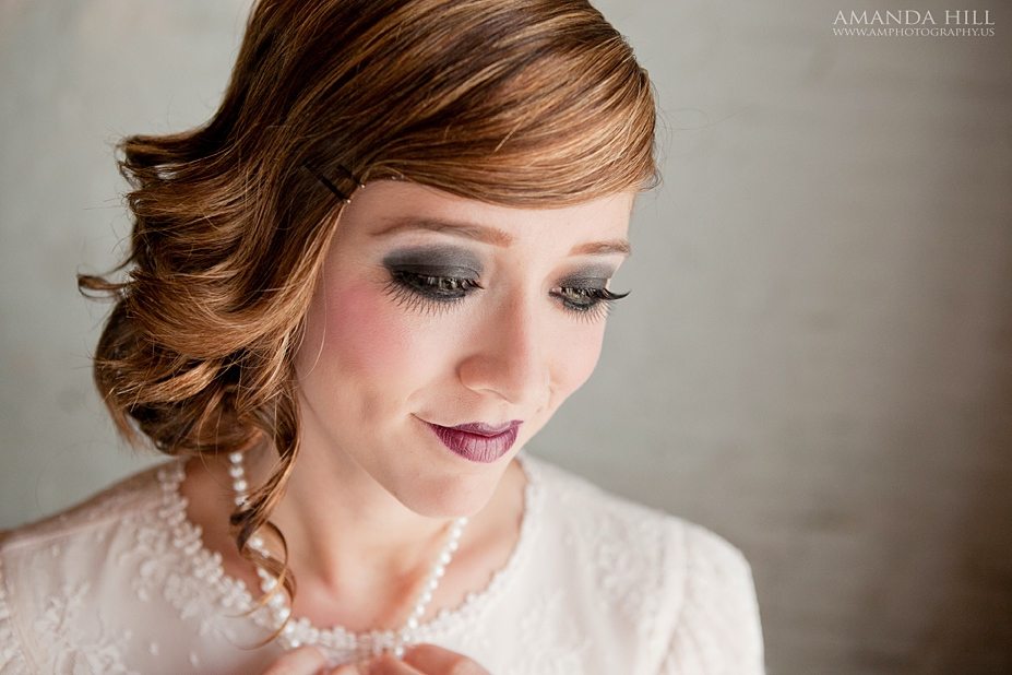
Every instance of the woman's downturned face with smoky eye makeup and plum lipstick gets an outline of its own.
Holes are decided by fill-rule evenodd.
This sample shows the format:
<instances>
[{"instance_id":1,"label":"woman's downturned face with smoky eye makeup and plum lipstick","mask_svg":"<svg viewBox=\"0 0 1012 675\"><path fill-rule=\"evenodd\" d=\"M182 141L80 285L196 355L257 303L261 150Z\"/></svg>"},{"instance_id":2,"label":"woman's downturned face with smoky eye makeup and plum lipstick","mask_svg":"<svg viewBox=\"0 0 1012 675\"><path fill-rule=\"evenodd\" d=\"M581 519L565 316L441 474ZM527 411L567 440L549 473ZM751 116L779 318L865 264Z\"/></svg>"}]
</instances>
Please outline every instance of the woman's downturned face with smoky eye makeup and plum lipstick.
<instances>
[{"instance_id":1,"label":"woman's downturned face with smoky eye makeup and plum lipstick","mask_svg":"<svg viewBox=\"0 0 1012 675\"><path fill-rule=\"evenodd\" d=\"M515 209L390 180L357 191L296 359L306 459L425 516L480 509L594 370L632 201Z\"/></svg>"}]
</instances>

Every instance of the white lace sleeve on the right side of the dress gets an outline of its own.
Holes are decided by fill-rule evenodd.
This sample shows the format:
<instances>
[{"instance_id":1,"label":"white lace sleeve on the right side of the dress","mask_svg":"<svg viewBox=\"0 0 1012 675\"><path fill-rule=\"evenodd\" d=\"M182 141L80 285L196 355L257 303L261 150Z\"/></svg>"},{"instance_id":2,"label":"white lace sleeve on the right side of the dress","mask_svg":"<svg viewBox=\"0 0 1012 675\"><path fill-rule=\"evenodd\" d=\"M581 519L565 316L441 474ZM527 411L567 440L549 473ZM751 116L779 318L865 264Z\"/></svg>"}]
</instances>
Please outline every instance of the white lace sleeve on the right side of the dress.
<instances>
[{"instance_id":1,"label":"white lace sleeve on the right side of the dress","mask_svg":"<svg viewBox=\"0 0 1012 675\"><path fill-rule=\"evenodd\" d=\"M662 675L762 675L762 629L745 556L716 534L688 525L684 592Z\"/></svg>"}]
</instances>

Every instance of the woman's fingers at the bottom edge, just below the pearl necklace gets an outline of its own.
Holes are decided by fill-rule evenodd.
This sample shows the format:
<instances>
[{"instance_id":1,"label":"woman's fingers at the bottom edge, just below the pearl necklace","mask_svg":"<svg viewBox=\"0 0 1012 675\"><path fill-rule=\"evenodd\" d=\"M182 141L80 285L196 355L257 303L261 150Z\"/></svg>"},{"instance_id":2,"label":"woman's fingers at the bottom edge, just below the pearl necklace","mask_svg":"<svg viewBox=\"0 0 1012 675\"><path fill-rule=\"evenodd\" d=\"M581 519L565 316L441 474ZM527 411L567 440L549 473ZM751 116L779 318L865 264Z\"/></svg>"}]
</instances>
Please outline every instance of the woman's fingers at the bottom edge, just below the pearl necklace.
<instances>
[{"instance_id":1,"label":"woman's fingers at the bottom edge, just below the pearl necklace","mask_svg":"<svg viewBox=\"0 0 1012 675\"><path fill-rule=\"evenodd\" d=\"M271 664L263 675L491 675L456 652L434 644L410 647L398 660L383 654L368 661L328 670L326 658L313 647L301 647Z\"/></svg>"}]
</instances>

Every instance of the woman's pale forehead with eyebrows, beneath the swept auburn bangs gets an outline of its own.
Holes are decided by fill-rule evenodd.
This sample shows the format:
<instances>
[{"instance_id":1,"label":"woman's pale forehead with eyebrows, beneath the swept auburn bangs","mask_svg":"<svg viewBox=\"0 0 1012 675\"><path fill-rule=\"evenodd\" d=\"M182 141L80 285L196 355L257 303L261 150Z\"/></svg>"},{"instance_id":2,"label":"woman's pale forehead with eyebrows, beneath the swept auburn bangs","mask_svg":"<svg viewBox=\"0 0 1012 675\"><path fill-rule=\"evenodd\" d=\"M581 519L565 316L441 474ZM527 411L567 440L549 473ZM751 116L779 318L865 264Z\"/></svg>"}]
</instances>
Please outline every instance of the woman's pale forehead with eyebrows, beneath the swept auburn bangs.
<instances>
[{"instance_id":1,"label":"woman's pale forehead with eyebrows, beneath the swept auburn bangs","mask_svg":"<svg viewBox=\"0 0 1012 675\"><path fill-rule=\"evenodd\" d=\"M378 240L445 235L501 248L626 256L633 199L632 192L621 192L556 209L514 208L383 180L355 193L342 215L342 229L354 230L346 236Z\"/></svg>"}]
</instances>

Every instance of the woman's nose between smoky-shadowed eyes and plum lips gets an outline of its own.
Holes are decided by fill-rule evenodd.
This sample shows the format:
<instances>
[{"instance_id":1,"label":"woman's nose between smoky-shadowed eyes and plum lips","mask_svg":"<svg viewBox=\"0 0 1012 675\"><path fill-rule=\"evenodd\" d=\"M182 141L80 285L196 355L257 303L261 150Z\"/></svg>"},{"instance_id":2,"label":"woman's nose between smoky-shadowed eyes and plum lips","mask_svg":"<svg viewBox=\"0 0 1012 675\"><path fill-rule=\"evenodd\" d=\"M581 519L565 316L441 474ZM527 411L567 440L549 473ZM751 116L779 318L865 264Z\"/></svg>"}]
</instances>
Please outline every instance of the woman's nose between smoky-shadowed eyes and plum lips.
<instances>
[{"instance_id":1,"label":"woman's nose between smoky-shadowed eyes and plum lips","mask_svg":"<svg viewBox=\"0 0 1012 675\"><path fill-rule=\"evenodd\" d=\"M491 393L517 408L540 408L550 393L551 374L545 344L545 321L534 303L520 297L503 299L469 332L467 356L457 367L468 389Z\"/></svg>"}]
</instances>

